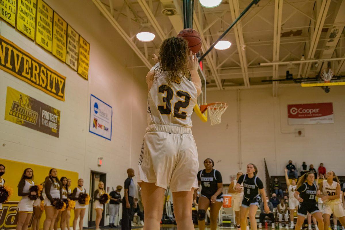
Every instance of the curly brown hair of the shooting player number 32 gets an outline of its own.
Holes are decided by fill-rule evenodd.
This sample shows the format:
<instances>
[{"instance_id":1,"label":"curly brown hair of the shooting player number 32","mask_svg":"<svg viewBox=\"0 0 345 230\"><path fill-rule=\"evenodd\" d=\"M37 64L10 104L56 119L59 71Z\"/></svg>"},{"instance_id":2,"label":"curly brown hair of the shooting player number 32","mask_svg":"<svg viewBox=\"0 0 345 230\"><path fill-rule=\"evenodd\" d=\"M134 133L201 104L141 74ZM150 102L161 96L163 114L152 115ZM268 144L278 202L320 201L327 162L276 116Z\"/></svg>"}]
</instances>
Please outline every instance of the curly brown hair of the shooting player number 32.
<instances>
[{"instance_id":1,"label":"curly brown hair of the shooting player number 32","mask_svg":"<svg viewBox=\"0 0 345 230\"><path fill-rule=\"evenodd\" d=\"M189 77L188 70L189 48L184 38L170 37L165 39L159 48L158 63L152 75L152 82L155 82L163 71L167 71L166 80L168 85L180 83L181 77Z\"/></svg>"}]
</instances>

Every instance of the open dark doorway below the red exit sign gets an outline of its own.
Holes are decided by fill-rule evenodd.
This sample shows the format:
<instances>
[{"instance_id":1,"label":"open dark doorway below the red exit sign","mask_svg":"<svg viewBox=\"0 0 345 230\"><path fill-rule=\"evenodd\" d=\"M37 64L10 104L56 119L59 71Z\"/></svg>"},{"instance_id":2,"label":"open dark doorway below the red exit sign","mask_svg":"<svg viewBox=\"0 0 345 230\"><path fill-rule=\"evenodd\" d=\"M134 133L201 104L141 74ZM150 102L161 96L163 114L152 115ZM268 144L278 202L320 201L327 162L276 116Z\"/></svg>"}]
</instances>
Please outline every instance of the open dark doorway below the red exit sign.
<instances>
[{"instance_id":1,"label":"open dark doorway below the red exit sign","mask_svg":"<svg viewBox=\"0 0 345 230\"><path fill-rule=\"evenodd\" d=\"M93 209L95 206L95 201L93 201L93 195L95 193L95 190L98 189L98 183L102 181L104 183L104 189L106 189L106 179L107 179L107 174L103 172L97 172L97 171L92 171L90 173L90 209L89 209L89 218L88 218L88 226L89 228L95 227L96 226L96 210ZM99 223L99 227L104 226L104 220L106 216L106 208L104 207L103 209L103 215L101 222Z\"/></svg>"}]
</instances>

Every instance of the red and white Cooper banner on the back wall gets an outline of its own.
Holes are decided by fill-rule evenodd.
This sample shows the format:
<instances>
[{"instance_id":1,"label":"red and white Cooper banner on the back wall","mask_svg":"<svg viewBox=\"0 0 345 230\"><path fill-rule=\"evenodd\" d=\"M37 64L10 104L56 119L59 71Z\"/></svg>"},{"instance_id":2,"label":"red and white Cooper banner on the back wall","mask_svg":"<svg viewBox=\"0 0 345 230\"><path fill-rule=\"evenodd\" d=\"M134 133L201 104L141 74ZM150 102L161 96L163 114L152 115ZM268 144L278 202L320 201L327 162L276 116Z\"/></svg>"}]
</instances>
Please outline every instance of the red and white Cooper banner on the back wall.
<instances>
[{"instance_id":1,"label":"red and white Cooper banner on the back wall","mask_svg":"<svg viewBox=\"0 0 345 230\"><path fill-rule=\"evenodd\" d=\"M332 103L287 105L287 115L289 125L334 123Z\"/></svg>"}]
</instances>

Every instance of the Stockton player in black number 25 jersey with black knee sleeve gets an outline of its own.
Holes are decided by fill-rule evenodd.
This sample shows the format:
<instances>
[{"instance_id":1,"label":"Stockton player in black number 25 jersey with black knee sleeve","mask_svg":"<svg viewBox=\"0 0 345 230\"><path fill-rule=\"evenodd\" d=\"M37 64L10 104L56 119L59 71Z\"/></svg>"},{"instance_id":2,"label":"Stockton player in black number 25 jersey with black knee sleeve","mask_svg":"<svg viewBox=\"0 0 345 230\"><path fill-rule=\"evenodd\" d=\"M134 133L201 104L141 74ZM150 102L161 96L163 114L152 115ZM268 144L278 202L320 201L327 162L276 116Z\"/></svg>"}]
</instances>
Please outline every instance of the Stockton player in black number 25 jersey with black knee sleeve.
<instances>
[{"instance_id":1,"label":"Stockton player in black number 25 jersey with black knee sleeve","mask_svg":"<svg viewBox=\"0 0 345 230\"><path fill-rule=\"evenodd\" d=\"M223 205L223 180L221 174L213 169L214 162L207 158L204 160L205 169L198 172L198 184L201 184L199 197L198 224L199 229L205 229L206 210L210 207L210 228L217 229L218 212ZM197 190L195 190L196 192Z\"/></svg>"}]
</instances>

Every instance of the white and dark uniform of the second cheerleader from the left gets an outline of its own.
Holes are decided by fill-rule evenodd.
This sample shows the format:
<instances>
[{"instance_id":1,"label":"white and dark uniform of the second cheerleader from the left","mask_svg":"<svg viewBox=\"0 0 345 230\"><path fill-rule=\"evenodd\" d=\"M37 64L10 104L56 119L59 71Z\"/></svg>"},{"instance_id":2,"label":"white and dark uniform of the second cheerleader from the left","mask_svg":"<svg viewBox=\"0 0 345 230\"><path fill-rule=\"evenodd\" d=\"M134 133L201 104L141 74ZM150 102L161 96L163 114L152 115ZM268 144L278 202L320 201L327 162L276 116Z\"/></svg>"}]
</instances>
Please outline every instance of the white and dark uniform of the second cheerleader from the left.
<instances>
[{"instance_id":1,"label":"white and dark uniform of the second cheerleader from the left","mask_svg":"<svg viewBox=\"0 0 345 230\"><path fill-rule=\"evenodd\" d=\"M35 183L31 180L30 182L28 180L21 181L19 183L18 188L18 196L21 196L21 200L18 203L17 211L18 212L33 212L33 200L29 199L30 195L30 187L34 186ZM22 191L20 191L22 189Z\"/></svg>"}]
</instances>

